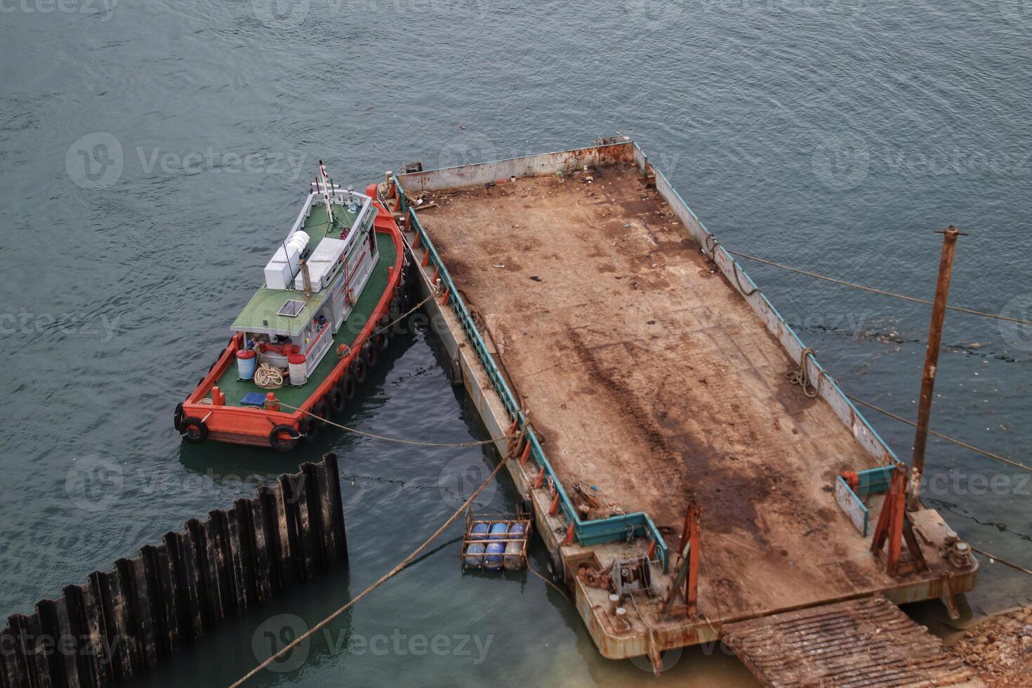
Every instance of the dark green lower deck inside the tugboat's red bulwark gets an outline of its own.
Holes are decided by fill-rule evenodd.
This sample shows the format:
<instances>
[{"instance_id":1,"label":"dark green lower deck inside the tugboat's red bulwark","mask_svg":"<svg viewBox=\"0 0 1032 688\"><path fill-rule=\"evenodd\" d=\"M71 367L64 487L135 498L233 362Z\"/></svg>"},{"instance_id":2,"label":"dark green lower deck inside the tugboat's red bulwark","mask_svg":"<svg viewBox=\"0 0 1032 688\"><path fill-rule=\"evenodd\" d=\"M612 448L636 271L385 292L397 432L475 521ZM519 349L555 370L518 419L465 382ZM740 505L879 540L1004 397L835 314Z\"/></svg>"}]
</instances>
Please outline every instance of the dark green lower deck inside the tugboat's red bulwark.
<instances>
[{"instance_id":1,"label":"dark green lower deck inside the tugboat's red bulwark","mask_svg":"<svg viewBox=\"0 0 1032 688\"><path fill-rule=\"evenodd\" d=\"M325 209L322 209L322 223L325 225ZM313 209L312 218L309 218L310 222L315 217L316 209ZM305 227L308 226L309 225L305 224ZM308 231L308 229L305 229L305 231ZM302 405L312 394L312 391L318 387L322 381L326 379L326 375L328 375L336 366L338 360L336 356L336 348L342 343L348 345L349 347L354 343L355 337L362 331L362 327L365 323L368 322L369 315L373 313L373 309L376 308L377 302L384 293L384 289L387 288L387 268L394 265L394 260L397 257L394 241L391 240L389 234L382 234L377 237L377 247L379 249L377 264L373 268L373 272L369 274L369 280L365 284L365 289L362 290L361 296L358 297L358 302L355 304L355 308L352 310L351 317L348 318L344 325L341 326L341 329L336 331L336 334L333 335L333 345L330 347L330 351L326 353L325 358L323 358L319 365L316 366L316 369L313 370L307 384L300 387L287 385L282 389L275 390L277 398L282 402L290 404L291 406ZM284 292L277 290L265 291L273 291L277 294L296 294L296 292ZM357 318L356 315L358 316ZM227 406L243 405L240 403L240 399L243 399L249 392L264 393L269 391L258 387L252 381L239 380L236 376L235 363L232 363L228 368L226 368L226 371L222 373L222 376L216 385L219 387L219 390L226 395Z\"/></svg>"}]
</instances>

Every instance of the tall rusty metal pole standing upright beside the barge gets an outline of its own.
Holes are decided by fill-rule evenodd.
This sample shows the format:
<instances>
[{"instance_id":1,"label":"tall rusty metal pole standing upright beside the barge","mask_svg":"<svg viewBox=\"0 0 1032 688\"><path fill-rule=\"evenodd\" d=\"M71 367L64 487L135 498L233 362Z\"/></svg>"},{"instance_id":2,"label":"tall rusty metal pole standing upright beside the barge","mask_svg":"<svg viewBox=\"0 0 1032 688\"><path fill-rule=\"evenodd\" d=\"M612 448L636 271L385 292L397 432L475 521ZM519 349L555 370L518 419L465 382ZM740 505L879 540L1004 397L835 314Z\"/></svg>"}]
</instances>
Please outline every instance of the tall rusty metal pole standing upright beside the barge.
<instances>
[{"instance_id":1,"label":"tall rusty metal pole standing upright beside the barge","mask_svg":"<svg viewBox=\"0 0 1032 688\"><path fill-rule=\"evenodd\" d=\"M928 445L928 427L932 417L932 392L935 389L935 371L939 366L939 348L942 345L942 323L946 318L949 280L954 273L954 251L957 248L957 237L962 234L953 225L936 233L942 234L942 256L939 258L939 282L935 287L932 322L928 329L925 372L921 379L921 401L917 405L917 431L913 438L913 461L911 462L913 489L910 491L910 511L915 511L921 500L921 477L925 472L925 448ZM964 236L967 236L967 234L964 233Z\"/></svg>"}]
</instances>

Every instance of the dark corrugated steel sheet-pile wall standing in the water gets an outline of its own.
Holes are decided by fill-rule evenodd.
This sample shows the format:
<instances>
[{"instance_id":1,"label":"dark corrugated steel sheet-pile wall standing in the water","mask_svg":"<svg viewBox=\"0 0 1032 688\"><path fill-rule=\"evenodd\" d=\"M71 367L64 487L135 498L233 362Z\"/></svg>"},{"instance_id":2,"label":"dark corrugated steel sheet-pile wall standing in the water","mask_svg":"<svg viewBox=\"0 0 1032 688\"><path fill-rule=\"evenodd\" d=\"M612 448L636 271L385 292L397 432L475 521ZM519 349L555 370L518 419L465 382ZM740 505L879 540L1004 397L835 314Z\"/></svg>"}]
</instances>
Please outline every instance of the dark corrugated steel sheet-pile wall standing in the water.
<instances>
[{"instance_id":1,"label":"dark corrugated steel sheet-pile wall standing in the water","mask_svg":"<svg viewBox=\"0 0 1032 688\"><path fill-rule=\"evenodd\" d=\"M336 455L191 519L0 631L0 686L119 686L226 618L348 560Z\"/></svg>"}]
</instances>

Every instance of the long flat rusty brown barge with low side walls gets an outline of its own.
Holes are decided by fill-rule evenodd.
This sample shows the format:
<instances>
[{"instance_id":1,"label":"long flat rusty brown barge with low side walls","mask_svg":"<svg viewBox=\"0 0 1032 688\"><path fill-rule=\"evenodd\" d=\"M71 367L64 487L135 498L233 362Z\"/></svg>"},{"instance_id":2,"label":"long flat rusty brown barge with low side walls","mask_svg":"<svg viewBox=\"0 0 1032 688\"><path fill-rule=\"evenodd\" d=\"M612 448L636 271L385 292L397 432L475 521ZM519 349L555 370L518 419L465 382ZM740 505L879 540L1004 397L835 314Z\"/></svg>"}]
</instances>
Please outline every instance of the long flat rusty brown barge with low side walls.
<instances>
[{"instance_id":1,"label":"long flat rusty brown barge with low side walls","mask_svg":"<svg viewBox=\"0 0 1032 688\"><path fill-rule=\"evenodd\" d=\"M947 559L932 510L910 515L928 570L892 577L872 554L836 480L895 464L892 450L813 356L815 397L786 380L803 342L636 144L383 186L424 287L442 292L436 329L488 429L501 436L514 414L531 424L533 460L508 468L605 656L655 656L791 610L973 587L976 564ZM417 197L429 206L418 214ZM552 481L536 488L543 471ZM660 607L689 502L699 613L671 616ZM649 551L650 589L628 588L616 618L592 575Z\"/></svg>"}]
</instances>

